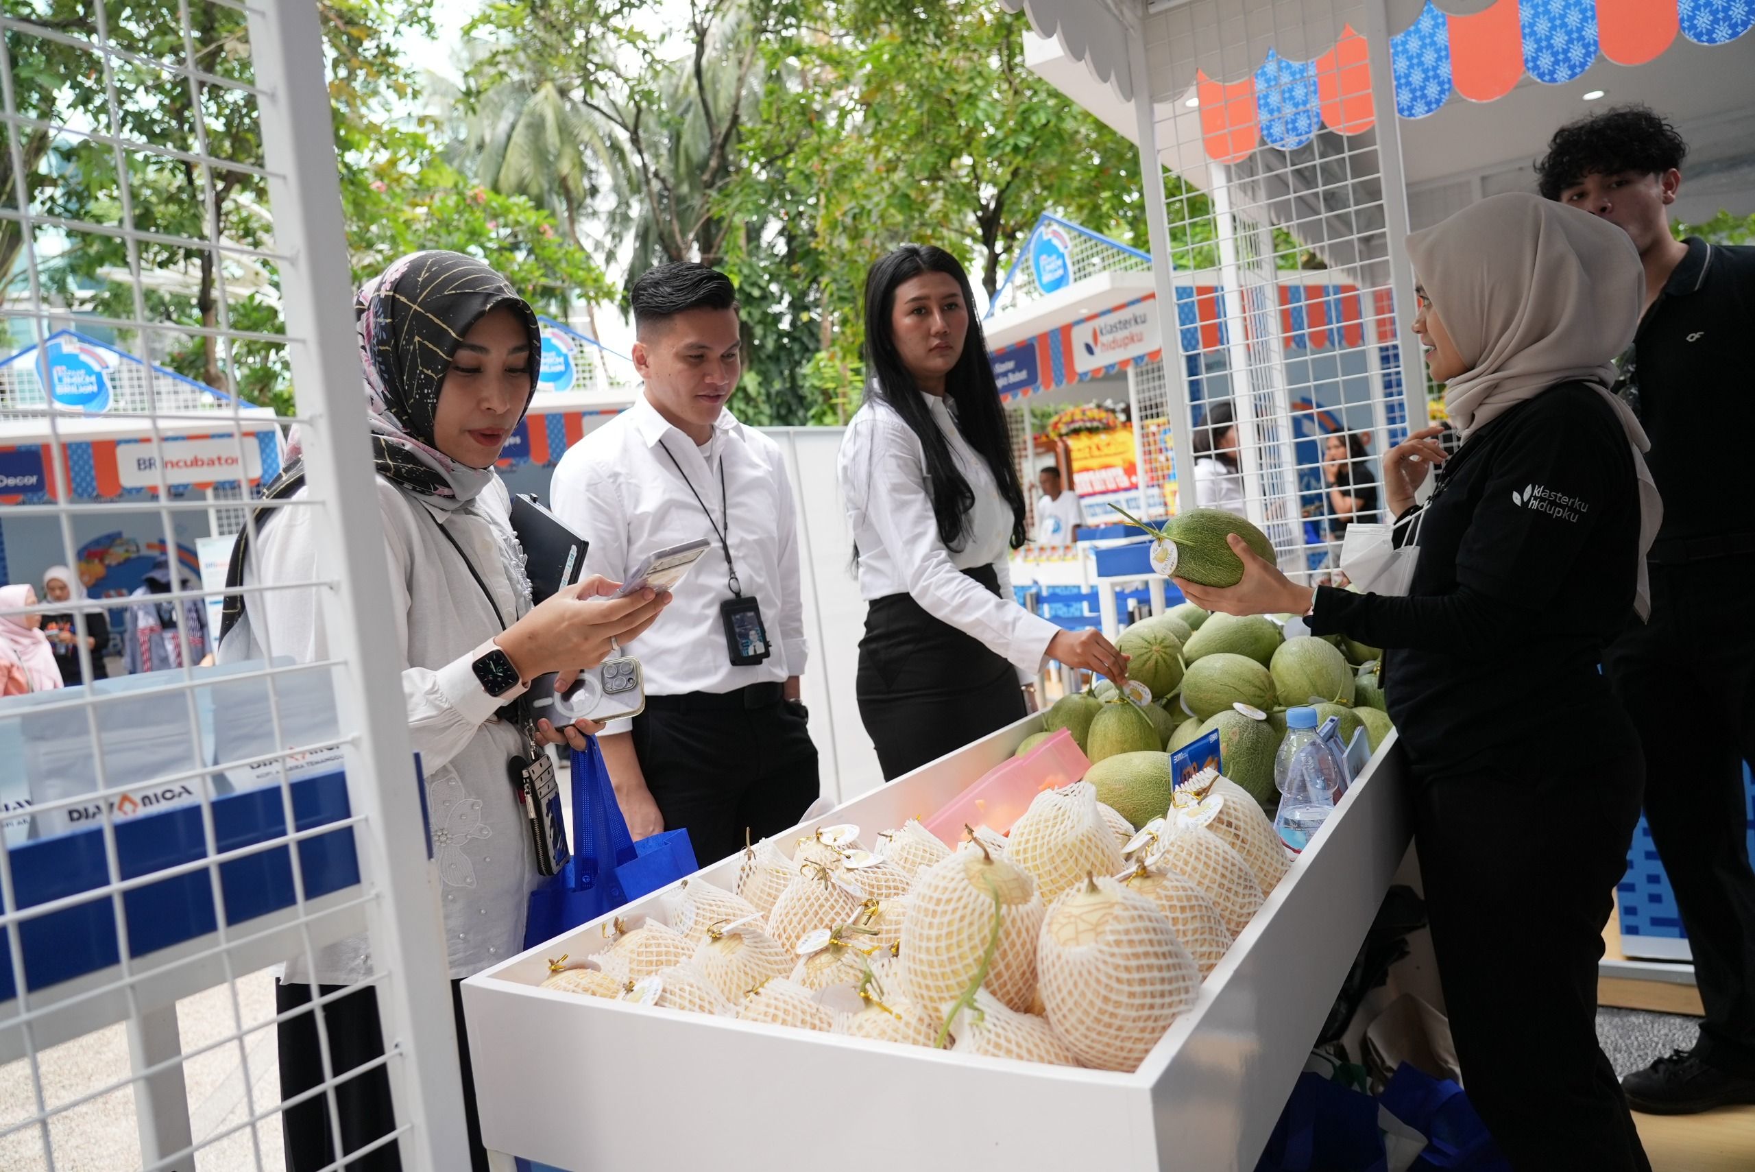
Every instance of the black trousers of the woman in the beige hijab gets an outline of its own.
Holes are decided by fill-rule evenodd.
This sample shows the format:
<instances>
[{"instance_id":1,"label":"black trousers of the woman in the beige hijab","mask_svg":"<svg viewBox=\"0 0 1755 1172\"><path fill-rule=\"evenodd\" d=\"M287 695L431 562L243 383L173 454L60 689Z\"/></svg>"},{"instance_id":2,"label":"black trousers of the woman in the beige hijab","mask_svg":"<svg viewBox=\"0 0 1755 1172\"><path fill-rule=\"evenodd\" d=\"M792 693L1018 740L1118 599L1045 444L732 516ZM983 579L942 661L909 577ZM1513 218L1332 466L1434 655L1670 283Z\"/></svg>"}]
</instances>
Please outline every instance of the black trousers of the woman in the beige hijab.
<instances>
[{"instance_id":1,"label":"black trousers of the woman in the beige hijab","mask_svg":"<svg viewBox=\"0 0 1755 1172\"><path fill-rule=\"evenodd\" d=\"M1643 774L1625 718L1601 723L1583 756L1529 746L1502 768L1413 783L1457 1058L1518 1172L1651 1168L1595 1032L1602 925Z\"/></svg>"}]
</instances>

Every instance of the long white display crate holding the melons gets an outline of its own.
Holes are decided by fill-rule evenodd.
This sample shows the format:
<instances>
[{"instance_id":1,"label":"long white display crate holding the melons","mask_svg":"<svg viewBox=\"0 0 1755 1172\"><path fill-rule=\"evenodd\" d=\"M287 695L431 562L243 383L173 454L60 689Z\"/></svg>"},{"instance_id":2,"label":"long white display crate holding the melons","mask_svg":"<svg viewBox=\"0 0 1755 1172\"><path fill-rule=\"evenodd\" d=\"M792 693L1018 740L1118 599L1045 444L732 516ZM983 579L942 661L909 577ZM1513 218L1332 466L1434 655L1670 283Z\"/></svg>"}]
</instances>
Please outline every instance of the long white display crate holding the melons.
<instances>
[{"instance_id":1,"label":"long white display crate holding the melons","mask_svg":"<svg viewBox=\"0 0 1755 1172\"><path fill-rule=\"evenodd\" d=\"M1011 756L1035 718L811 823L867 842ZM602 921L463 983L491 1151L569 1172L1248 1172L1408 849L1393 737L1134 1074L811 1033L539 988ZM732 888L739 860L704 868ZM660 895L621 909L662 918Z\"/></svg>"}]
</instances>

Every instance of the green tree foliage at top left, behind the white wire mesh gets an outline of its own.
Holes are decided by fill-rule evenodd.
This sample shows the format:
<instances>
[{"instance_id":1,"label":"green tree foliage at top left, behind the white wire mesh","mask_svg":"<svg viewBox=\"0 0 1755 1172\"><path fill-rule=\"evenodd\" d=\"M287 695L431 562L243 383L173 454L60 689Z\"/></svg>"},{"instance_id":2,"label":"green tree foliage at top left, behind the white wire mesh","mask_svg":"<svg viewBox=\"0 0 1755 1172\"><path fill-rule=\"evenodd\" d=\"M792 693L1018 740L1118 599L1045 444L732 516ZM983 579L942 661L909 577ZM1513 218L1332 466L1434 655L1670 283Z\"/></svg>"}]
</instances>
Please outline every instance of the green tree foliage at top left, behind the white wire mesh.
<instances>
[{"instance_id":1,"label":"green tree foliage at top left, behind the white wire mesh","mask_svg":"<svg viewBox=\"0 0 1755 1172\"><path fill-rule=\"evenodd\" d=\"M318 11L356 275L419 247L456 247L548 307L605 289L544 211L476 188L441 160L426 126L402 116L412 79L397 39L430 32L423 0L321 0ZM16 226L0 221L11 230L0 230L0 274L9 288L35 277L40 297L100 321L188 326L95 328L209 386L233 384L290 411L279 346L204 333L283 328L274 265L254 254L274 242L254 98L177 72L190 56L200 74L251 82L247 18L190 4L188 44L176 0L105 0L104 18L98 26L90 0L37 0L26 19L65 40L5 32L19 112L67 130L26 135L23 174L5 153L0 198L16 205L23 186L33 211L61 226L39 233L32 274ZM102 35L125 54L95 51ZM126 237L125 225L144 235ZM202 247L211 240L223 247Z\"/></svg>"}]
</instances>

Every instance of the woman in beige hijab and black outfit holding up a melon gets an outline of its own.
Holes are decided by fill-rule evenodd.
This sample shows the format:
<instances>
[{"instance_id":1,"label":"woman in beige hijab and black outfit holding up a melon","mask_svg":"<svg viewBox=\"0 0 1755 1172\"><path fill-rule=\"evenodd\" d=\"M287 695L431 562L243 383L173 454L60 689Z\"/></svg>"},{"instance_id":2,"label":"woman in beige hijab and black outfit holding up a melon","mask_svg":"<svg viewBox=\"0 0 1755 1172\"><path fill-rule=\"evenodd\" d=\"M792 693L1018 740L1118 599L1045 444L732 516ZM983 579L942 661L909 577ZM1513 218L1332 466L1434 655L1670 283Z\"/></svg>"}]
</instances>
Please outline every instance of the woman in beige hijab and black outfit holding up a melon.
<instances>
[{"instance_id":1,"label":"woman in beige hijab and black outfit holding up a melon","mask_svg":"<svg viewBox=\"0 0 1755 1172\"><path fill-rule=\"evenodd\" d=\"M1408 597L1295 584L1236 539L1237 586L1179 584L1213 611L1304 614L1386 649L1469 1098L1520 1172L1646 1172L1595 1037L1601 932L1644 781L1597 663L1650 609L1662 518L1644 433L1608 391L1644 274L1622 230L1534 195L1481 200L1408 251L1415 330L1464 435L1448 461L1437 428L1385 460L1390 512L1420 514Z\"/></svg>"}]
</instances>

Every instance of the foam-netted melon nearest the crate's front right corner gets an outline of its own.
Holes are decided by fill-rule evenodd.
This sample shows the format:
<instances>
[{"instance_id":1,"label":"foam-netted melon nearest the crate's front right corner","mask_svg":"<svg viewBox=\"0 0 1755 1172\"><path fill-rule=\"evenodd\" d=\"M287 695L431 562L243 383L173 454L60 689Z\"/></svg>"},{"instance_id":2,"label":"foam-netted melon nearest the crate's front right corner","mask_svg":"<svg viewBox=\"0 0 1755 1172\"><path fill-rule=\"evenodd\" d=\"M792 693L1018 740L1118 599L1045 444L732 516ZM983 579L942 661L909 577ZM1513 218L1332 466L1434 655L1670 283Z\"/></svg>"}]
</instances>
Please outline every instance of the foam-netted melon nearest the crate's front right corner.
<instances>
[{"instance_id":1,"label":"foam-netted melon nearest the crate's front right corner","mask_svg":"<svg viewBox=\"0 0 1755 1172\"><path fill-rule=\"evenodd\" d=\"M1099 1070L1135 1070L1200 990L1200 970L1171 921L1114 879L1055 902L1037 972L1048 1021Z\"/></svg>"}]
</instances>

